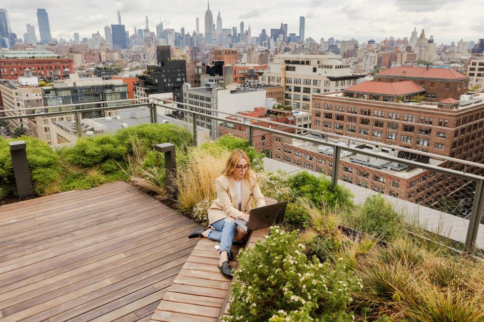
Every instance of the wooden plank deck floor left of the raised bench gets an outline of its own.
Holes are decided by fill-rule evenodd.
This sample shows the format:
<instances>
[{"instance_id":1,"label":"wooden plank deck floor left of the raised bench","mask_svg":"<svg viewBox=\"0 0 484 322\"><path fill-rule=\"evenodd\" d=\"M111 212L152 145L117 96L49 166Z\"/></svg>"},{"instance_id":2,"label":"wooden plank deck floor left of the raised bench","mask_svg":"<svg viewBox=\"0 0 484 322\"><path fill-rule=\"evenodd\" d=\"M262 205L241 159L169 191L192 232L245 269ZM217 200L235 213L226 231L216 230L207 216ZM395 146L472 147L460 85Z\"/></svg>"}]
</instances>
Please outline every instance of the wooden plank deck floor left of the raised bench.
<instances>
[{"instance_id":1,"label":"wooden plank deck floor left of the raised bench","mask_svg":"<svg viewBox=\"0 0 484 322\"><path fill-rule=\"evenodd\" d=\"M197 228L120 181L2 206L1 321L149 321Z\"/></svg>"}]
</instances>

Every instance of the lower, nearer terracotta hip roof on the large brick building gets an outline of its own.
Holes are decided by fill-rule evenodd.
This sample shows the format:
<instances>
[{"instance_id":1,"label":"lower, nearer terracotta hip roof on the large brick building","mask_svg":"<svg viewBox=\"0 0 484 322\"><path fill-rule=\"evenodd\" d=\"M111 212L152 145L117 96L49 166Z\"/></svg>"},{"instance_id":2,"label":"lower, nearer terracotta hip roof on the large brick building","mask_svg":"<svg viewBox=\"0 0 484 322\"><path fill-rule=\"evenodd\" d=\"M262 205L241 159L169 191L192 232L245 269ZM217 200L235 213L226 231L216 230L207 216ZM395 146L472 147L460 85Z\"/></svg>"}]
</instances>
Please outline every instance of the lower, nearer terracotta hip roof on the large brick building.
<instances>
[{"instance_id":1,"label":"lower, nearer terracotta hip roof on the large brick building","mask_svg":"<svg viewBox=\"0 0 484 322\"><path fill-rule=\"evenodd\" d=\"M413 83L412 81L392 82L392 83L367 81L367 82L361 82L359 84L345 88L343 89L343 91L371 93L371 94L384 94L384 95L391 95L391 96L425 92L423 88Z\"/></svg>"}]
</instances>

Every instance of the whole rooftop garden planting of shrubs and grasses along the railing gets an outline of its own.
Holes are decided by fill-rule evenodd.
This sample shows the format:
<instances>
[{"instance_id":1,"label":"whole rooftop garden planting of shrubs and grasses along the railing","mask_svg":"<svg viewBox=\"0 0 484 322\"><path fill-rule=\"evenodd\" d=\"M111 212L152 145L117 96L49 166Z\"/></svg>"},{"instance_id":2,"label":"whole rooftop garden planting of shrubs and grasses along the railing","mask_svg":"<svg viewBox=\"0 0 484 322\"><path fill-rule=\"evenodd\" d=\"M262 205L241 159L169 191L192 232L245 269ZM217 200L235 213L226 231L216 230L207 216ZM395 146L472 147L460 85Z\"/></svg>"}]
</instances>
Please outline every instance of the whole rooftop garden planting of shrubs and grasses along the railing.
<instances>
[{"instance_id":1,"label":"whole rooftop garden planting of shrubs and grasses along the railing","mask_svg":"<svg viewBox=\"0 0 484 322\"><path fill-rule=\"evenodd\" d=\"M192 135L172 124L142 124L55 151L22 139L36 196L126 180L202 225L227 156L246 151L263 194L289 204L266 241L239 254L229 321L484 320L483 263L408 226L381 196L355 205L350 190L325 177L265 172L263 155L243 139L194 147ZM152 150L164 142L176 145L172 199L163 155ZM0 139L1 199L13 201L14 186L8 144Z\"/></svg>"}]
</instances>

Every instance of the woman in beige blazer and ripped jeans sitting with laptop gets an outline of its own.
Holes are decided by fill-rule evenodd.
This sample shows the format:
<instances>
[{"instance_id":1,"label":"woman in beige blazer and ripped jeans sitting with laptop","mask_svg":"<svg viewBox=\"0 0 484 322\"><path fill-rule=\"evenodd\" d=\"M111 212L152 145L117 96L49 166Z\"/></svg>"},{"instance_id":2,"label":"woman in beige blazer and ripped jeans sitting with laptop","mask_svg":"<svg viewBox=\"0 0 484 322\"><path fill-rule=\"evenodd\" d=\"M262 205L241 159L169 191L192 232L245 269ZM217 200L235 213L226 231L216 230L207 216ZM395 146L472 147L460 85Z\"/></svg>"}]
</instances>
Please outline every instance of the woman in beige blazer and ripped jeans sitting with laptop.
<instances>
[{"instance_id":1,"label":"woman in beige blazer and ripped jeans sitting with laptop","mask_svg":"<svg viewBox=\"0 0 484 322\"><path fill-rule=\"evenodd\" d=\"M232 242L243 241L247 232L237 226L235 219L249 221L251 197L256 207L266 205L257 176L251 169L251 163L242 150L236 150L228 157L222 175L215 180L217 199L208 209L210 226L204 231L196 231L189 238L205 237L220 241L220 260L218 268L223 275L232 277L228 263L233 259L230 249Z\"/></svg>"}]
</instances>

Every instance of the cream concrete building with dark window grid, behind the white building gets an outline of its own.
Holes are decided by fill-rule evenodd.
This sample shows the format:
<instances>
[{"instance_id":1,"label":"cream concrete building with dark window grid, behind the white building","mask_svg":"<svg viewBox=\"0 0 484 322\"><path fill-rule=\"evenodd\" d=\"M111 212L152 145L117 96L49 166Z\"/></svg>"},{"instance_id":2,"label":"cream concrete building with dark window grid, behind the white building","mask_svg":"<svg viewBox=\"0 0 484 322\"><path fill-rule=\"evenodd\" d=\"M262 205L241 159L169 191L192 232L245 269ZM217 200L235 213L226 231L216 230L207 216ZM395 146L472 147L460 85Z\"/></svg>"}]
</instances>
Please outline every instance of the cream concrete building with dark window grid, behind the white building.
<instances>
[{"instance_id":1,"label":"cream concrete building with dark window grid, behind the white building","mask_svg":"<svg viewBox=\"0 0 484 322\"><path fill-rule=\"evenodd\" d=\"M310 111L312 95L340 91L365 75L353 75L339 55L278 55L261 77L262 84L284 86L284 105Z\"/></svg>"}]
</instances>

